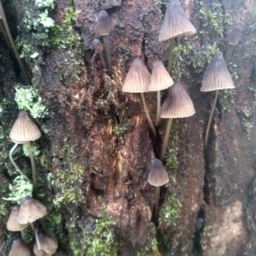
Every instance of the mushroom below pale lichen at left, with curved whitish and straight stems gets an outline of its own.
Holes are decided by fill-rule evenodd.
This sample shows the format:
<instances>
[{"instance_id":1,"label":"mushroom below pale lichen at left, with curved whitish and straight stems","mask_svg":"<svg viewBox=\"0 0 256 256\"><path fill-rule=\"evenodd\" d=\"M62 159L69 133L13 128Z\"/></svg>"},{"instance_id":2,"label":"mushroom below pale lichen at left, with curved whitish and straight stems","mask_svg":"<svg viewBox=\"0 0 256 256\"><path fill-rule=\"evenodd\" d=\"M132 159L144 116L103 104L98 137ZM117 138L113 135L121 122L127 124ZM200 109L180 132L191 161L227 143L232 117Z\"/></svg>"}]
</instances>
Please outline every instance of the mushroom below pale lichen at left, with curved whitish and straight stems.
<instances>
[{"instance_id":1,"label":"mushroom below pale lichen at left, with curved whitish and straight stems","mask_svg":"<svg viewBox=\"0 0 256 256\"><path fill-rule=\"evenodd\" d=\"M12 141L15 143L13 148L10 150L10 160L12 161L13 166L16 168L16 170L24 177L24 179L28 180L31 182L30 179L24 173L22 173L15 164L13 158L12 158L12 153L13 150L19 145L19 144L28 144L28 150L29 150L29 155L31 159L31 167L32 167L32 175L33 175L33 186L36 189L36 169L35 169L35 161L33 157L33 153L31 150L31 144L30 141L37 140L38 138L41 137L41 132L36 126L35 122L33 122L28 115L26 111L20 111L19 116L17 120L14 122L12 125L12 129L10 131L10 138Z\"/></svg>"}]
</instances>

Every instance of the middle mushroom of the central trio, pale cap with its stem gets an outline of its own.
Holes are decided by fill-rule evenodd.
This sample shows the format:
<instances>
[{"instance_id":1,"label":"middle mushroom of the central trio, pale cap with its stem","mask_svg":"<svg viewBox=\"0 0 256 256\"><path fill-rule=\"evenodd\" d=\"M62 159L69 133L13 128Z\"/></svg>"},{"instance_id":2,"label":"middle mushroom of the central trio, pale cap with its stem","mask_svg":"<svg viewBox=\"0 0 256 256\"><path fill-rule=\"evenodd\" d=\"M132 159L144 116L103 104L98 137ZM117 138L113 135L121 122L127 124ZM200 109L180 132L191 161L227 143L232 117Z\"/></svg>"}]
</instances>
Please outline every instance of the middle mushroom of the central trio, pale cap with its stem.
<instances>
[{"instance_id":1,"label":"middle mushroom of the central trio, pale cap with its stem","mask_svg":"<svg viewBox=\"0 0 256 256\"><path fill-rule=\"evenodd\" d=\"M148 84L148 91L157 91L156 126L158 126L161 111L161 90L169 88L172 84L172 77L170 77L169 73L164 68L163 63L161 61L155 61L153 63L150 83Z\"/></svg>"}]
</instances>

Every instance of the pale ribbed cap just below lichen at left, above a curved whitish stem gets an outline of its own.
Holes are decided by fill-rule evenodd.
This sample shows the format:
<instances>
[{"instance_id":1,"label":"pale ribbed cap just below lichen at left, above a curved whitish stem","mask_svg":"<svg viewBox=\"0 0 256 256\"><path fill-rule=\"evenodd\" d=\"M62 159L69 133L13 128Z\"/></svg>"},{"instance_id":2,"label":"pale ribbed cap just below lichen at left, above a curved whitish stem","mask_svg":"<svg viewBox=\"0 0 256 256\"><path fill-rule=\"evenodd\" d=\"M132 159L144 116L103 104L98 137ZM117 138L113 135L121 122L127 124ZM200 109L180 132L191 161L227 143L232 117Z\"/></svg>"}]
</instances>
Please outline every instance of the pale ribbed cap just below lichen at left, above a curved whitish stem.
<instances>
[{"instance_id":1,"label":"pale ribbed cap just below lichen at left, above a curved whitish stem","mask_svg":"<svg viewBox=\"0 0 256 256\"><path fill-rule=\"evenodd\" d=\"M37 140L41 137L41 132L35 122L26 111L20 111L18 118L12 125L10 138L15 143L24 143L26 141Z\"/></svg>"}]
</instances>

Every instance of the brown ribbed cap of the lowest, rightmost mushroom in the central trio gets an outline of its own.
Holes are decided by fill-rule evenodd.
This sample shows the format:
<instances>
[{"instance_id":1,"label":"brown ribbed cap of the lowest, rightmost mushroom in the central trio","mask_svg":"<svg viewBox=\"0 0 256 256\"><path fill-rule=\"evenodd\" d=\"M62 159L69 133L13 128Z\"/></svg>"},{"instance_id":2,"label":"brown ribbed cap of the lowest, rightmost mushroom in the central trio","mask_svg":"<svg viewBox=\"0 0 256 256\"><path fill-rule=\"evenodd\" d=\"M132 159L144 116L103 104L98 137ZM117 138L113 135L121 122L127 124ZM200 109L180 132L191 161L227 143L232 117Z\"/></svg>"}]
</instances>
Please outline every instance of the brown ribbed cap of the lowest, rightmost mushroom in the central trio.
<instances>
[{"instance_id":1,"label":"brown ribbed cap of the lowest, rightmost mushroom in the central trio","mask_svg":"<svg viewBox=\"0 0 256 256\"><path fill-rule=\"evenodd\" d=\"M161 108L161 118L182 118L195 114L195 108L188 93L180 82L170 87L168 97Z\"/></svg>"}]
</instances>

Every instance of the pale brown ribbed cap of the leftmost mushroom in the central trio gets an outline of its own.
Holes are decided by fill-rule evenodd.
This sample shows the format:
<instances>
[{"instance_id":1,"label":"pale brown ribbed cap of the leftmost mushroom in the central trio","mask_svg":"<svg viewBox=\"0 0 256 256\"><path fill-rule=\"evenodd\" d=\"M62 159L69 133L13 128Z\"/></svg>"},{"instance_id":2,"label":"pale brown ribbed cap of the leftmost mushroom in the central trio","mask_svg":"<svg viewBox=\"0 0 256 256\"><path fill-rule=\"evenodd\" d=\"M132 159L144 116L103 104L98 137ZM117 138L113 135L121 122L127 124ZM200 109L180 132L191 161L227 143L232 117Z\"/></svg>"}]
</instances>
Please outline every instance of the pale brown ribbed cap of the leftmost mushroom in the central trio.
<instances>
[{"instance_id":1,"label":"pale brown ribbed cap of the leftmost mushroom in the central trio","mask_svg":"<svg viewBox=\"0 0 256 256\"><path fill-rule=\"evenodd\" d=\"M150 83L150 72L140 58L132 61L131 67L125 77L123 92L148 92L148 84Z\"/></svg>"}]
</instances>

